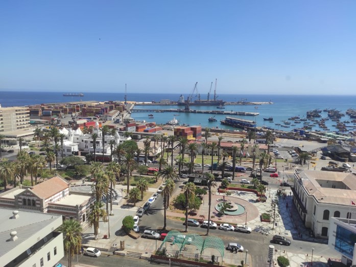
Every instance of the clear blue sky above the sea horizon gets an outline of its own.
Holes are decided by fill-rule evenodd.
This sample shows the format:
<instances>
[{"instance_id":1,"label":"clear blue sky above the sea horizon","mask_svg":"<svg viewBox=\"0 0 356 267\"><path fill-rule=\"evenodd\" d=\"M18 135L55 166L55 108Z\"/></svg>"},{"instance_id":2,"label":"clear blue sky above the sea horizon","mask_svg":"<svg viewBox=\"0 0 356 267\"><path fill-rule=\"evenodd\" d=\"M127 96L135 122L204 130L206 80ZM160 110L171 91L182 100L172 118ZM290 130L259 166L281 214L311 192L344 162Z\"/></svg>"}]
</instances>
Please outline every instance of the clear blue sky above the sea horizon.
<instances>
[{"instance_id":1,"label":"clear blue sky above the sea horizon","mask_svg":"<svg viewBox=\"0 0 356 267\"><path fill-rule=\"evenodd\" d=\"M356 94L356 1L14 1L0 90Z\"/></svg>"}]
</instances>

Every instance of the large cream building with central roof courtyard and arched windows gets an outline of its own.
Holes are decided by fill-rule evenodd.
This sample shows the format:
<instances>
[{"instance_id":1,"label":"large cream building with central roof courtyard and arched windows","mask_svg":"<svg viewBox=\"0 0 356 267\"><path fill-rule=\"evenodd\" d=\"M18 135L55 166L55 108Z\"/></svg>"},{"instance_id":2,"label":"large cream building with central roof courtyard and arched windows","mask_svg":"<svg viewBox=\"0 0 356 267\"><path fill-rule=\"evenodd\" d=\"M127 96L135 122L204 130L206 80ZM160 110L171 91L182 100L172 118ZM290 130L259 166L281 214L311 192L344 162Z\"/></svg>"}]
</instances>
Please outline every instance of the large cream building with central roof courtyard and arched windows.
<instances>
[{"instance_id":1,"label":"large cream building with central roof courtyard and arched windows","mask_svg":"<svg viewBox=\"0 0 356 267\"><path fill-rule=\"evenodd\" d=\"M306 228L327 238L330 218L356 218L356 176L350 172L295 171L294 204Z\"/></svg>"}]
</instances>

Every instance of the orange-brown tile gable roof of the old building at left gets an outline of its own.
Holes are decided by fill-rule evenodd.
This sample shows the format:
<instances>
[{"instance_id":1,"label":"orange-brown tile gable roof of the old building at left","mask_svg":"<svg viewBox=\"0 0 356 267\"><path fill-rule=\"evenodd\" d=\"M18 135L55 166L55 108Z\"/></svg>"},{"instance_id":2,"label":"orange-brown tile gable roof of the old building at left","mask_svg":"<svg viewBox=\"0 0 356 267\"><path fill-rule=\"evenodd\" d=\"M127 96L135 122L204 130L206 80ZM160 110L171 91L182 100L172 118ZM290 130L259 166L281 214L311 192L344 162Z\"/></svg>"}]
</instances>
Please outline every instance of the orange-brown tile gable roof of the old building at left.
<instances>
[{"instance_id":1,"label":"orange-brown tile gable roof of the old building at left","mask_svg":"<svg viewBox=\"0 0 356 267\"><path fill-rule=\"evenodd\" d=\"M69 183L57 175L31 188L41 198L49 198L69 187Z\"/></svg>"}]
</instances>

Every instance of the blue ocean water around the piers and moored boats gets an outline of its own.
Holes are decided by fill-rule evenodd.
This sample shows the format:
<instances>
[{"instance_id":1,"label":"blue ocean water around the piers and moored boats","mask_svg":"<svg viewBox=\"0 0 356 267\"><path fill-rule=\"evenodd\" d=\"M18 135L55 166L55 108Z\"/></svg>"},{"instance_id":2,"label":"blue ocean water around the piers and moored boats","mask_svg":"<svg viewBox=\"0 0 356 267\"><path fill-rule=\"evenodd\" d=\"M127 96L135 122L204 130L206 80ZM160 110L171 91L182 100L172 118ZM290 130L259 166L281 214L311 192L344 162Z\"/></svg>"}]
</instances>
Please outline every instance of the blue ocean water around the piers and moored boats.
<instances>
[{"instance_id":1,"label":"blue ocean water around the piers and moored boats","mask_svg":"<svg viewBox=\"0 0 356 267\"><path fill-rule=\"evenodd\" d=\"M67 93L67 92L63 92ZM108 100L118 100L124 101L124 93L84 93L84 97L63 97L62 92L0 92L0 104L3 107L7 106L26 106L32 104L41 103L62 103L62 102L72 102L72 101L108 101ZM183 94L185 99L188 94ZM138 101L138 102L159 102L162 99L170 99L172 101L177 101L180 94L146 94L146 93L135 93L127 94L128 101ZM204 99L205 97L201 97ZM281 121L288 120L288 118L293 116L299 116L302 118L306 117L307 110L311 109L337 109L340 112L345 113L348 108L356 109L356 95L354 96L338 96L338 95L219 95L218 99L222 99L228 102L240 101L242 99L247 99L248 102L273 102L273 104L263 104L263 105L226 105L225 109L220 110L233 110L242 112L258 112L259 115L253 116L232 116L239 117L246 120L255 120L257 126L267 126L275 129L281 130L292 130L296 127L301 127L302 124L296 124L296 126L290 126L290 128L280 128L275 123L283 124ZM194 99L193 99L194 100ZM146 108L147 106L136 106L137 108ZM176 105L172 106L149 106L152 109L159 108L178 108ZM257 108L256 108L257 107ZM179 107L182 108L182 107ZM217 110L216 106L192 106L192 109L208 109ZM153 114L154 118L149 119L148 115ZM233 129L232 127L220 124L220 120L225 119L224 115L216 115L217 122L208 122L208 118L211 116L209 114L185 114L185 113L132 113L131 117L138 121L145 120L146 122L154 121L157 124L164 124L169 120L172 120L174 114L179 114L176 119L180 121L181 124L188 125L201 125L210 128L223 128L223 129ZM326 112L321 113L322 117L327 117ZM264 121L263 118L273 117L273 122ZM342 117L341 121L351 121L347 115ZM330 131L337 131L333 125L336 123L329 120L326 121L326 126ZM346 123L348 126L353 126L353 123ZM313 127L314 130L322 130L316 125ZM352 130L353 128L350 128ZM353 129L354 130L354 129Z\"/></svg>"}]
</instances>

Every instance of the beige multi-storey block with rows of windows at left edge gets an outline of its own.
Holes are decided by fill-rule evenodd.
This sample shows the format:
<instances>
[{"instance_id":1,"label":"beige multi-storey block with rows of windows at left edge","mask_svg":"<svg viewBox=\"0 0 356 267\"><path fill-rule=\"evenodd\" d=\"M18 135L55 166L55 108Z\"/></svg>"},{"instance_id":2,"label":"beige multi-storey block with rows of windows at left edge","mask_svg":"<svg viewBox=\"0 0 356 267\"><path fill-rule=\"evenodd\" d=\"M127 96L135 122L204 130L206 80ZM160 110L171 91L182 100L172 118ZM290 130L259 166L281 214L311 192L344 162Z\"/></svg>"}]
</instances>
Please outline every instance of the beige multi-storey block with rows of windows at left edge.
<instances>
[{"instance_id":1,"label":"beige multi-storey block with rows of windows at left edge","mask_svg":"<svg viewBox=\"0 0 356 267\"><path fill-rule=\"evenodd\" d=\"M0 132L30 128L28 107L0 107Z\"/></svg>"}]
</instances>

